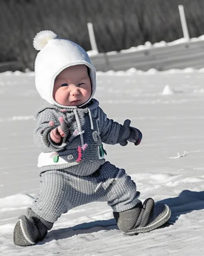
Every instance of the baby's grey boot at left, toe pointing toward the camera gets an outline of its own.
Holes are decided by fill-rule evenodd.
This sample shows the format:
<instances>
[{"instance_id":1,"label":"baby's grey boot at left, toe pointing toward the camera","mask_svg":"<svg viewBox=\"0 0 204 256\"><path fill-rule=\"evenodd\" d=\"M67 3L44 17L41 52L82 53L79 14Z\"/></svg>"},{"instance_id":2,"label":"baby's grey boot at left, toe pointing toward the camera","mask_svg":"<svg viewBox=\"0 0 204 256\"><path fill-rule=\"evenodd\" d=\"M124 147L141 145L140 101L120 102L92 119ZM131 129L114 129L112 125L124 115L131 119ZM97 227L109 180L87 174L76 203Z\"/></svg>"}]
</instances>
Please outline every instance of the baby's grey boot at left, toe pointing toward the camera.
<instances>
[{"instance_id":1,"label":"baby's grey boot at left, toe pointing toward the camera","mask_svg":"<svg viewBox=\"0 0 204 256\"><path fill-rule=\"evenodd\" d=\"M14 228L14 244L19 246L34 245L43 240L47 235L47 230L51 229L53 223L43 220L37 216L30 208L27 217L22 215Z\"/></svg>"}]
</instances>

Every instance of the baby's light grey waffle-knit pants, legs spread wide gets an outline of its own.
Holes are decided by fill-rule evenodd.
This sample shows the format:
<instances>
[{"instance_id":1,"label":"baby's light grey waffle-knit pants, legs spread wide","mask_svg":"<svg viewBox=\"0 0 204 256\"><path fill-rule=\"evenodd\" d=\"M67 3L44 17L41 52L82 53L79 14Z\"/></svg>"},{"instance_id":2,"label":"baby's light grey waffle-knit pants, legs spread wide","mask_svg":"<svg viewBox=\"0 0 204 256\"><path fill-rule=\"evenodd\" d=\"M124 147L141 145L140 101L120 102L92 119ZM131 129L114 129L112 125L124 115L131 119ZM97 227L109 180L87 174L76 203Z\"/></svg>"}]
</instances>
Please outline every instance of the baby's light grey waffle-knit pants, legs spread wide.
<instances>
[{"instance_id":1,"label":"baby's light grey waffle-knit pants, legs spread wide","mask_svg":"<svg viewBox=\"0 0 204 256\"><path fill-rule=\"evenodd\" d=\"M128 210L140 202L135 182L124 169L110 162L105 162L92 176L51 170L42 173L41 177L39 198L34 200L31 209L52 223L68 210L90 202L108 202L114 212Z\"/></svg>"}]
</instances>

